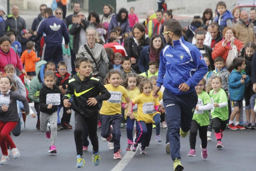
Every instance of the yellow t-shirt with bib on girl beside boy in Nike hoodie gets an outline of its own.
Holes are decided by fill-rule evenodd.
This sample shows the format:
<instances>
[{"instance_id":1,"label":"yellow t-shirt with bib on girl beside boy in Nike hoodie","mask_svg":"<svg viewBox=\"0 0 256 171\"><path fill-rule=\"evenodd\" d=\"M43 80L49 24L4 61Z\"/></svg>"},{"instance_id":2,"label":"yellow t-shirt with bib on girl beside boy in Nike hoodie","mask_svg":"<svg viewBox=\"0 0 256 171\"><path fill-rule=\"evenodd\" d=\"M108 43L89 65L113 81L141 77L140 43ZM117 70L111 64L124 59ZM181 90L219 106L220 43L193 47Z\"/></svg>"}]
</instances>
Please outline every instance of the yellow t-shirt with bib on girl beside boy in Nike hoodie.
<instances>
[{"instance_id":1,"label":"yellow t-shirt with bib on girl beside boy in Nike hoodie","mask_svg":"<svg viewBox=\"0 0 256 171\"><path fill-rule=\"evenodd\" d=\"M121 85L118 87L113 87L111 84L104 85L106 89L111 94L108 100L104 100L102 107L100 109L100 114L102 115L121 115L121 100L122 97L126 98L128 96L127 91Z\"/></svg>"}]
</instances>

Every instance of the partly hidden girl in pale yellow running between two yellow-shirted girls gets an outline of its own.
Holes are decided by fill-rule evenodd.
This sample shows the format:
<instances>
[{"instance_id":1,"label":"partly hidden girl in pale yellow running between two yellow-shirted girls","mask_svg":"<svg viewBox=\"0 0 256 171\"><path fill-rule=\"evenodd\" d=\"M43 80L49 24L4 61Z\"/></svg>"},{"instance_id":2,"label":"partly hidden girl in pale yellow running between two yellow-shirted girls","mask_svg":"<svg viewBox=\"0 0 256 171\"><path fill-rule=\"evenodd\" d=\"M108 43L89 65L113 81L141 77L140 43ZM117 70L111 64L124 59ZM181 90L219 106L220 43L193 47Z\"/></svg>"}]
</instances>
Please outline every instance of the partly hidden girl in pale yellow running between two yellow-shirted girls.
<instances>
[{"instance_id":1,"label":"partly hidden girl in pale yellow running between two yellow-shirted girls","mask_svg":"<svg viewBox=\"0 0 256 171\"><path fill-rule=\"evenodd\" d=\"M134 99L138 95L140 95L140 90L138 89L139 81L138 81L138 75L135 73L129 73L126 75L126 78L124 79L123 86L126 88L128 96L130 99ZM122 103L123 108L125 109L125 114L127 113L127 104ZM134 121L137 119L137 110L138 106L137 104L132 107L132 114L134 115L134 119L131 119L130 117L126 117L124 115L125 119L127 119L126 123L126 133L127 133L127 147L126 150L131 150L131 146L133 143L133 125ZM137 121L136 121L137 123Z\"/></svg>"}]
</instances>

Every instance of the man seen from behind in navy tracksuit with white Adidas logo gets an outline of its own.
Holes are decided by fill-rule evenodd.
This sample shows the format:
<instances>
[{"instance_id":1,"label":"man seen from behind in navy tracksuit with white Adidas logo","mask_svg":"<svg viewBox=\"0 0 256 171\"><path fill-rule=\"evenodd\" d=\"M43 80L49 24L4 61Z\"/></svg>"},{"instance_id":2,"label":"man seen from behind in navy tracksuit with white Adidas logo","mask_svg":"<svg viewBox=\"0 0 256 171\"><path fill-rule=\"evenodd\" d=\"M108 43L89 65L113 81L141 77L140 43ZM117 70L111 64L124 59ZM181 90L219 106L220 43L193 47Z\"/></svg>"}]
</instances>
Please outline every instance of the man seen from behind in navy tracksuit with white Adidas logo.
<instances>
[{"instance_id":1,"label":"man seen from behind in navy tracksuit with white Adidas logo","mask_svg":"<svg viewBox=\"0 0 256 171\"><path fill-rule=\"evenodd\" d=\"M36 31L38 36L44 36L41 60L53 61L57 68L58 63L63 61L62 36L65 39L65 48L68 48L68 29L61 19L53 15L51 8L46 8L44 13L47 19L39 23Z\"/></svg>"}]
</instances>

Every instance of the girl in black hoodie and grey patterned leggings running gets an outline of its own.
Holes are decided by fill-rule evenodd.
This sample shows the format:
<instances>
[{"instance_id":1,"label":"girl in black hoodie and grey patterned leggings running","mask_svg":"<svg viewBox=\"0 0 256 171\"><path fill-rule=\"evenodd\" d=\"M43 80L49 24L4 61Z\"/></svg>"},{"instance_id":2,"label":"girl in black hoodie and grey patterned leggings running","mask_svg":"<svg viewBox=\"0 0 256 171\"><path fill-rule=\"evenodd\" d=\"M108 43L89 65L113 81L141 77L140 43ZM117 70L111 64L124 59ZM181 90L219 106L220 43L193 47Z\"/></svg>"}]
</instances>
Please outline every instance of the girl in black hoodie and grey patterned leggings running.
<instances>
[{"instance_id":1,"label":"girl in black hoodie and grey patterned leggings running","mask_svg":"<svg viewBox=\"0 0 256 171\"><path fill-rule=\"evenodd\" d=\"M62 93L56 86L55 74L47 71L44 75L44 84L39 93L40 104L40 130L45 132L47 138L51 138L48 153L57 153L55 142L57 139L57 111L62 99ZM48 121L50 124L48 124Z\"/></svg>"}]
</instances>

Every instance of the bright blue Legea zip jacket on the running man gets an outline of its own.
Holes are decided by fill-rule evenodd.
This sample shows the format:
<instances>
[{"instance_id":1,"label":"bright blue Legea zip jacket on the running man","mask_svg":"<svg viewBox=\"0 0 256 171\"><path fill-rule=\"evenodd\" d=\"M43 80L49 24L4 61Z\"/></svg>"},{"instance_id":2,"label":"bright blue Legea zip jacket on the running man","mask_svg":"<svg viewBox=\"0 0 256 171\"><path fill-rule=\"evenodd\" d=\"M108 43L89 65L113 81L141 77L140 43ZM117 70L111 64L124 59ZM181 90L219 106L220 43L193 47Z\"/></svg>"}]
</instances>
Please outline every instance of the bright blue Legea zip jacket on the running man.
<instances>
[{"instance_id":1,"label":"bright blue Legea zip jacket on the running man","mask_svg":"<svg viewBox=\"0 0 256 171\"><path fill-rule=\"evenodd\" d=\"M163 85L174 95L188 94L195 91L195 86L208 72L208 67L198 47L181 37L167 45L160 53L160 65L157 86ZM179 85L186 83L187 92L179 91Z\"/></svg>"}]
</instances>

